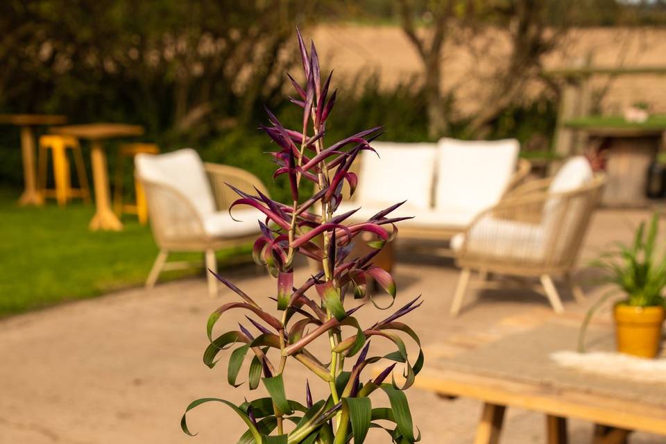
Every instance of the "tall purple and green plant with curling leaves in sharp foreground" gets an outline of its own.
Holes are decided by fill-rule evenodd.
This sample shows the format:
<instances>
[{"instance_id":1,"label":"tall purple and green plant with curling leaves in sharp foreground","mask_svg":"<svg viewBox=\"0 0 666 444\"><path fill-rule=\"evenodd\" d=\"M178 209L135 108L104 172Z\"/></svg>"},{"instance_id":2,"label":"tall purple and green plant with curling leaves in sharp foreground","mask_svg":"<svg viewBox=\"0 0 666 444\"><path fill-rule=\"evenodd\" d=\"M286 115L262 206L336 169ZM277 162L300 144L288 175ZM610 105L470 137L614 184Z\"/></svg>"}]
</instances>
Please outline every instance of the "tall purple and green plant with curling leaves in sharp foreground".
<instances>
[{"instance_id":1,"label":"tall purple and green plant with curling leaves in sharp foreground","mask_svg":"<svg viewBox=\"0 0 666 444\"><path fill-rule=\"evenodd\" d=\"M293 77L289 80L296 90L290 100L303 109L302 127L284 128L270 111L267 126L262 126L278 149L273 155L278 165L275 176L286 174L291 188L291 205L275 202L259 190L248 194L239 189L236 205L250 205L264 213L259 221L261 236L255 242L253 257L268 268L277 280L277 296L271 298L278 314L264 309L253 298L234 284L216 277L236 293L241 300L222 305L208 319L207 334L210 345L203 361L213 368L222 350L236 347L228 359L228 383L237 387L237 377L249 355L248 384L250 390L260 382L269 397L235 405L219 398L203 398L189 404L187 411L205 402L222 402L230 407L248 427L238 443L363 443L370 427L380 427L395 443L414 443L415 436L409 404L404 391L413 384L414 377L423 366L420 340L399 318L416 309L419 298L398 309L382 321L363 328L353 315L366 296L366 279L372 278L395 301L395 282L389 273L373 265L373 257L398 233L395 223L406 218L392 218L397 203L361 223L345 223L356 210L335 214L343 199L343 182L353 194L358 178L350 171L352 162L361 151L374 151L370 142L382 127L370 128L339 142L325 146L326 121L336 101L336 91L329 94L331 75L321 81L319 60L314 44L308 53L298 33L305 85ZM314 182L314 195L301 196L303 180ZM311 208L321 210L316 214ZM230 212L232 209L230 209ZM368 245L372 253L364 257L350 257L352 245L362 232L370 232L378 239ZM323 239L323 241L321 241ZM293 282L293 260L296 254L321 263L323 271L300 286ZM314 295L314 298L313 298ZM370 300L372 298L370 297ZM357 302L354 304L354 302ZM393 302L391 302L391 305ZM345 307L345 305L347 307ZM350 307L355 305L355 307ZM377 305L375 305L377 307ZM230 309L242 309L250 324L239 324L239 330L214 337L216 321ZM274 311L275 312L275 311ZM250 332L252 325L255 332ZM370 338L390 341L396 350L388 355L371 356ZM327 338L330 355L322 359L308 350L312 341ZM418 357L411 361L404 339L411 339L418 347ZM356 356L351 366L345 364ZM305 405L287 397L282 379L288 359L295 359L327 384L330 395L314 402L309 384L305 383ZM377 377L364 376L368 364L393 361ZM404 383L398 384L392 375L396 364L404 367ZM391 408L373 408L370 395L375 391L388 397ZM375 421L384 420L377 424ZM385 427L386 422L393 427ZM382 425L383 424L383 425ZM181 427L190 434L185 415Z\"/></svg>"}]
</instances>

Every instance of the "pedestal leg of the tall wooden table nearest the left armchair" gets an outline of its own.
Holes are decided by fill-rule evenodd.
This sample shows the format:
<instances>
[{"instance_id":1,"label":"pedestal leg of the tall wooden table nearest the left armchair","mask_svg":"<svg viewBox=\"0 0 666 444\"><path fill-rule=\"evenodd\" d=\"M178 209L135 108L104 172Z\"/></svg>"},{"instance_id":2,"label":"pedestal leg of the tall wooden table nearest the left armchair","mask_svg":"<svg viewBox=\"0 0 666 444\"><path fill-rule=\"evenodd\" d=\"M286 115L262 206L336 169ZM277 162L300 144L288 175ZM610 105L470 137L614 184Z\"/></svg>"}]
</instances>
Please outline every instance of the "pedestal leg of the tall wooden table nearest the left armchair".
<instances>
[{"instance_id":1,"label":"pedestal leg of the tall wooden table nearest the left armchair","mask_svg":"<svg viewBox=\"0 0 666 444\"><path fill-rule=\"evenodd\" d=\"M92 221L90 221L89 227L91 230L122 230L123 224L111 210L109 176L104 148L98 140L91 142L91 148L90 157L92 160L92 179L95 187L96 212Z\"/></svg>"}]
</instances>

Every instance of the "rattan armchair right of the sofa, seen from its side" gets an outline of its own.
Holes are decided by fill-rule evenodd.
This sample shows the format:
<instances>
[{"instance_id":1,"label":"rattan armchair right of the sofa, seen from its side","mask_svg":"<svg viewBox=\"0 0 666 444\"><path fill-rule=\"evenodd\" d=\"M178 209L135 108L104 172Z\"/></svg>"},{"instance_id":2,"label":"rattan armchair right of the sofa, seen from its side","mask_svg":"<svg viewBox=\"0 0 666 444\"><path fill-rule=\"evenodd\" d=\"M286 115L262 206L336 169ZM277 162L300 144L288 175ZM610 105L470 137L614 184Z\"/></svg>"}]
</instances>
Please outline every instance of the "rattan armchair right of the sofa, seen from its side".
<instances>
[{"instance_id":1,"label":"rattan armchair right of the sofa, seen from its side","mask_svg":"<svg viewBox=\"0 0 666 444\"><path fill-rule=\"evenodd\" d=\"M584 158L574 158L580 167ZM577 187L556 191L554 178L533 180L517 187L495 207L479 214L463 234L452 239L456 264L462 268L451 306L459 314L472 271L483 277L481 287L497 288L506 282L490 282L493 274L513 278L538 278L557 313L564 307L552 280L561 276L574 298L585 296L572 280L583 236L605 183L603 174L592 176ZM523 284L524 287L524 284Z\"/></svg>"}]
</instances>

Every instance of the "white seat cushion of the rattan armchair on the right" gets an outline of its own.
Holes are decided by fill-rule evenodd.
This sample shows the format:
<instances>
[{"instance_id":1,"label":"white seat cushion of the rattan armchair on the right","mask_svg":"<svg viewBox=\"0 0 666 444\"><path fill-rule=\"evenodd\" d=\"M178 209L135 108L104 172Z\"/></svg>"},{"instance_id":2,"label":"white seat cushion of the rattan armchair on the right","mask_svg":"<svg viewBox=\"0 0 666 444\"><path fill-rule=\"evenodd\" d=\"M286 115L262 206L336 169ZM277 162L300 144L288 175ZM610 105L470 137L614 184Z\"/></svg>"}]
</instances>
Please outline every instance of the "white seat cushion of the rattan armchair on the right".
<instances>
[{"instance_id":1,"label":"white seat cushion of the rattan armchair on the right","mask_svg":"<svg viewBox=\"0 0 666 444\"><path fill-rule=\"evenodd\" d=\"M535 223L488 216L476 223L468 236L466 251L472 255L497 259L542 259L545 251L543 228ZM465 240L465 234L456 234L451 239L451 248L459 251Z\"/></svg>"}]
</instances>

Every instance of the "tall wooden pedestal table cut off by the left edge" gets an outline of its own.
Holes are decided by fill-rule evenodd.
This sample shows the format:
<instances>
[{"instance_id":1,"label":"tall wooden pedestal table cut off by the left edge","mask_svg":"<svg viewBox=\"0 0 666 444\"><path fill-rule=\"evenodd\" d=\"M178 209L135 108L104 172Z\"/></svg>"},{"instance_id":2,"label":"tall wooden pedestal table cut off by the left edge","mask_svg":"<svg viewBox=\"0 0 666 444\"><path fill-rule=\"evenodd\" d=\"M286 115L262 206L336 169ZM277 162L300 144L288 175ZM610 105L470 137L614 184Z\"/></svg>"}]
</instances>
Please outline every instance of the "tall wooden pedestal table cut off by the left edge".
<instances>
[{"instance_id":1,"label":"tall wooden pedestal table cut off by the left edge","mask_svg":"<svg viewBox=\"0 0 666 444\"><path fill-rule=\"evenodd\" d=\"M24 191L19 198L19 203L21 205L42 205L44 196L37 191L33 128L35 126L62 125L62 123L67 123L67 117L57 114L0 114L0 123L21 128Z\"/></svg>"}]
</instances>

